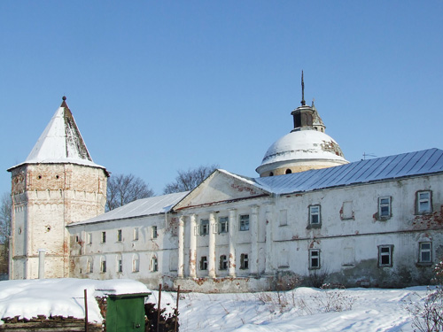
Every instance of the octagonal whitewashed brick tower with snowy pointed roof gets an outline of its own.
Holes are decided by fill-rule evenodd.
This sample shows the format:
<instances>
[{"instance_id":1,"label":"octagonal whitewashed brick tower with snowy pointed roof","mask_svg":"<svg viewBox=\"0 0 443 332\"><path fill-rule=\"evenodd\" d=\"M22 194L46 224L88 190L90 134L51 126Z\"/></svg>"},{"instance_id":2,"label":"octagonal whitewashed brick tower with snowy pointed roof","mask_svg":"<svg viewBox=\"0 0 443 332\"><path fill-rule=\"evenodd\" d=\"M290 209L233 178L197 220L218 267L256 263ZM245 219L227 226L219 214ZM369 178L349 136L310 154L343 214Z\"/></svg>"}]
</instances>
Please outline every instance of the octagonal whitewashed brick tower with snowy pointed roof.
<instances>
[{"instance_id":1,"label":"octagonal whitewashed brick tower with snowy pointed roof","mask_svg":"<svg viewBox=\"0 0 443 332\"><path fill-rule=\"evenodd\" d=\"M44 276L69 276L66 225L105 212L105 167L92 161L63 103L25 162L12 173L12 242L10 278L34 279L39 250L45 251Z\"/></svg>"}]
</instances>

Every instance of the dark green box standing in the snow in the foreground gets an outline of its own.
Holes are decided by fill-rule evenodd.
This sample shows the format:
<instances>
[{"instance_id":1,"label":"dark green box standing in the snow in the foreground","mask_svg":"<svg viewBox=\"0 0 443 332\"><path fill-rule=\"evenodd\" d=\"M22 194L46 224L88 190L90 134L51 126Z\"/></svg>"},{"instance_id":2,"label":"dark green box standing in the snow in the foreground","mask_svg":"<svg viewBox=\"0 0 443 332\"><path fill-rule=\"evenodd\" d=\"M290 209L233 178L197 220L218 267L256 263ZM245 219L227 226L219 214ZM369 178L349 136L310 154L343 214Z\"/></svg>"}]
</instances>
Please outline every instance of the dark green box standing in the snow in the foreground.
<instances>
[{"instance_id":1,"label":"dark green box standing in the snow in the foreground","mask_svg":"<svg viewBox=\"0 0 443 332\"><path fill-rule=\"evenodd\" d=\"M144 297L150 294L108 294L106 331L144 331Z\"/></svg>"}]
</instances>

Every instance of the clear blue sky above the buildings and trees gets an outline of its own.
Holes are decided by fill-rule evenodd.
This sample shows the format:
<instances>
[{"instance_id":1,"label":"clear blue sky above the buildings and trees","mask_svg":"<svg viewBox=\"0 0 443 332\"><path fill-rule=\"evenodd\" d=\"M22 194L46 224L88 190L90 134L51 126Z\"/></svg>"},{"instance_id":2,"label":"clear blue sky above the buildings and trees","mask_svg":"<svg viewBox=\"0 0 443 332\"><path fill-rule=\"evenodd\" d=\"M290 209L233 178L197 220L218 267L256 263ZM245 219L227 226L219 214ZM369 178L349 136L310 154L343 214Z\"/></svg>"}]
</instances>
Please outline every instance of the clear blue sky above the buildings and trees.
<instances>
[{"instance_id":1,"label":"clear blue sky above the buildings and trees","mask_svg":"<svg viewBox=\"0 0 443 332\"><path fill-rule=\"evenodd\" d=\"M443 149L443 1L1 1L0 192L66 95L94 161L156 194L255 168L305 98L350 161Z\"/></svg>"}]
</instances>

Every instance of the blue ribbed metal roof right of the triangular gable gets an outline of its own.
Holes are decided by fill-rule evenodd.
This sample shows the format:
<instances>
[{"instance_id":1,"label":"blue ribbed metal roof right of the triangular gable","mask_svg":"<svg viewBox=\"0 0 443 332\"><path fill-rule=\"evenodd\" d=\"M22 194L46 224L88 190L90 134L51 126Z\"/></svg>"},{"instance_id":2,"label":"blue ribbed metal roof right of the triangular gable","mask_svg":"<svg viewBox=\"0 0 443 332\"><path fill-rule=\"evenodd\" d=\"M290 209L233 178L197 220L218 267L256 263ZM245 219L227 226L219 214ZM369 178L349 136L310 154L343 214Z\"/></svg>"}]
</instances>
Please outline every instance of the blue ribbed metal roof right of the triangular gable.
<instances>
[{"instance_id":1,"label":"blue ribbed metal roof right of the triangular gable","mask_svg":"<svg viewBox=\"0 0 443 332\"><path fill-rule=\"evenodd\" d=\"M289 194L439 172L443 172L443 151L429 149L253 181L272 193Z\"/></svg>"}]
</instances>

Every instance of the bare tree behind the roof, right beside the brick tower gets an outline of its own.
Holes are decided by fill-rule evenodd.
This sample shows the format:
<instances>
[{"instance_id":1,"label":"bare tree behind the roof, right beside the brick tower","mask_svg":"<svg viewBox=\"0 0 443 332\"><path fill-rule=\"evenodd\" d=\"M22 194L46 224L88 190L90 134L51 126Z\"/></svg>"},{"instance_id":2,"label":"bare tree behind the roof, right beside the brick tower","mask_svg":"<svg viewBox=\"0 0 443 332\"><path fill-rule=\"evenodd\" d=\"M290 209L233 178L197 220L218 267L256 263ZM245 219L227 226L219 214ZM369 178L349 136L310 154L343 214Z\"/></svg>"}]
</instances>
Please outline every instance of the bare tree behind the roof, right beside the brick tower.
<instances>
[{"instance_id":1,"label":"bare tree behind the roof, right beside the brick tower","mask_svg":"<svg viewBox=\"0 0 443 332\"><path fill-rule=\"evenodd\" d=\"M139 177L133 174L117 174L108 179L106 211L126 205L136 199L152 197L154 192Z\"/></svg>"}]
</instances>

